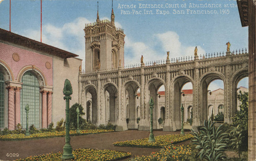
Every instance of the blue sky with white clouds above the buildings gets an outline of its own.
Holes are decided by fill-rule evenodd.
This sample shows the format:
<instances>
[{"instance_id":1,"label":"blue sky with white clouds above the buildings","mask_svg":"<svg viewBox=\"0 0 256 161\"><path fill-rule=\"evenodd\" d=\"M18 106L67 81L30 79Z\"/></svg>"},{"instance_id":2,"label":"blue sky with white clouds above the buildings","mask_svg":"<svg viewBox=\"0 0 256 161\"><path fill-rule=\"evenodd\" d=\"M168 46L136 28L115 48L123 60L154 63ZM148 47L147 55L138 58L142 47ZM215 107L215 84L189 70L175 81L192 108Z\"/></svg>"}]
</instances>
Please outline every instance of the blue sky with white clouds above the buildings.
<instances>
[{"instance_id":1,"label":"blue sky with white clouds above the buildings","mask_svg":"<svg viewBox=\"0 0 256 161\"><path fill-rule=\"evenodd\" d=\"M1 0L0 0L1 1ZM110 19L112 2L99 0L100 19ZM125 33L125 65L144 61L192 56L195 46L198 53L213 53L226 50L230 42L231 51L248 48L248 28L242 28L237 2L233 0L114 0L116 26ZM169 14L123 14L132 9L118 8L120 5L136 5L135 11L144 12L139 4L160 4L159 10ZM179 5L179 8L166 8ZM221 5L220 8L189 8L189 4ZM0 28L9 30L9 0L0 3ZM181 6L186 5L186 8ZM127 8L127 6L126 6ZM216 14L186 14L189 10L216 10ZM185 14L174 14L184 10ZM222 14L224 13L224 14ZM42 42L71 51L84 60L84 24L95 22L97 1L95 0L43 0ZM11 32L40 41L40 1L11 0ZM83 61L84 68L84 61ZM248 82L242 86L248 86ZM215 82L213 82L215 83ZM221 87L221 83L215 83Z\"/></svg>"}]
</instances>

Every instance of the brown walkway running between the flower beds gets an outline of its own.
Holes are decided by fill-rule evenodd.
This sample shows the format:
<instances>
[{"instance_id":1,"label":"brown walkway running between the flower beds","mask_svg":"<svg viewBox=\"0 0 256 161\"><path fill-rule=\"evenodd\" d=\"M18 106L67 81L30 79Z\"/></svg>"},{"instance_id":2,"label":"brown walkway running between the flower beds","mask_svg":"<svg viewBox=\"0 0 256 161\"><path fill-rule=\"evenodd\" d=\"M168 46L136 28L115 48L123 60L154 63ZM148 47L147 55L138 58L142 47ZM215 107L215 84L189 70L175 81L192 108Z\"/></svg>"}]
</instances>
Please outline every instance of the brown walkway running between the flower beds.
<instances>
[{"instance_id":1,"label":"brown walkway running between the flower beds","mask_svg":"<svg viewBox=\"0 0 256 161\"><path fill-rule=\"evenodd\" d=\"M180 131L154 131L154 135L166 135L170 133L180 133ZM160 149L153 148L132 148L132 147L118 147L113 143L117 141L134 140L148 137L148 131L118 131L108 133L98 133L85 136L71 137L71 145L73 149L77 148L93 148L93 149L109 149L123 152L131 152L133 155L149 155L153 151ZM189 141L180 144L188 144ZM50 152L63 151L65 145L65 137L49 138L49 139L35 139L23 141L0 141L0 160L13 160L17 158L26 158L27 156L34 156L39 154L46 154ZM18 153L18 157L7 157L7 153Z\"/></svg>"}]
</instances>

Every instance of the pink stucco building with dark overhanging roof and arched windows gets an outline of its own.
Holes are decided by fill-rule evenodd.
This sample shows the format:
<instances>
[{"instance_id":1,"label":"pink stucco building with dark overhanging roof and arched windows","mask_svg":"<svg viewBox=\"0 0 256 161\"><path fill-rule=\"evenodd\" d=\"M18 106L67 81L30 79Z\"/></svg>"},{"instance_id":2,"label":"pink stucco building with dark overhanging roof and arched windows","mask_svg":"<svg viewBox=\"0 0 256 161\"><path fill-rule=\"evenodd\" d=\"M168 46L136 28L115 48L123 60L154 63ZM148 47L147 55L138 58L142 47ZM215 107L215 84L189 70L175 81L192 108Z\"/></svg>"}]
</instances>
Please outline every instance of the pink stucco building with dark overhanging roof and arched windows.
<instances>
[{"instance_id":1,"label":"pink stucco building with dark overhanging roof and arched windows","mask_svg":"<svg viewBox=\"0 0 256 161\"><path fill-rule=\"evenodd\" d=\"M62 88L66 78L78 91L81 60L74 53L0 29L0 128L47 128L65 118ZM77 94L76 94L77 93ZM72 102L78 102L74 92ZM56 115L55 115L56 114Z\"/></svg>"}]
</instances>

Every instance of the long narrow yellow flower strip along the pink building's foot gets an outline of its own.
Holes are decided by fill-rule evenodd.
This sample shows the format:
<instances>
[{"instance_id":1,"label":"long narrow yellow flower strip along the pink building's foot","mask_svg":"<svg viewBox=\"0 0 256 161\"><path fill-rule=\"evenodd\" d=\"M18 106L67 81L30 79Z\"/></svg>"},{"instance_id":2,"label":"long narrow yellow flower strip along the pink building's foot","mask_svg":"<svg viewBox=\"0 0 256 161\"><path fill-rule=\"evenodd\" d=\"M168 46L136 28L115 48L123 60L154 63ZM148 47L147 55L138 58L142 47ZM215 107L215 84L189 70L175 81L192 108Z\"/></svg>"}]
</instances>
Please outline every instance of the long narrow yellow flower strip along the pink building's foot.
<instances>
[{"instance_id":1,"label":"long narrow yellow flower strip along the pink building's foot","mask_svg":"<svg viewBox=\"0 0 256 161\"><path fill-rule=\"evenodd\" d=\"M103 130L103 129L90 129L90 130L80 130L80 134L76 130L70 130L70 135L88 135L92 133L103 133L103 132L112 132L114 130ZM34 133L29 136L22 134L8 134L0 136L0 140L24 140L24 139L40 139L40 138L52 138L52 137L63 137L66 135L66 131L55 131L55 132L41 132Z\"/></svg>"}]
</instances>

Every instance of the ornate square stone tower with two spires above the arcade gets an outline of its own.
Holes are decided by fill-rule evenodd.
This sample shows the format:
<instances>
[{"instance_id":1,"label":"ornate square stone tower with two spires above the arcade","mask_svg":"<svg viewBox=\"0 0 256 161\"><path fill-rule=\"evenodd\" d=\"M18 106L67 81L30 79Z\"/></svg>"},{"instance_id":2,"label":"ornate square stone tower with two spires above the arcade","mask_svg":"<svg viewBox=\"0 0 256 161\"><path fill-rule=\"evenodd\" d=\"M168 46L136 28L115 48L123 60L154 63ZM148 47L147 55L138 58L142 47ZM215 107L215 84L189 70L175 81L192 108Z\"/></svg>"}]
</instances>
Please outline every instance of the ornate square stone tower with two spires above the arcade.
<instances>
[{"instance_id":1,"label":"ornate square stone tower with two spires above the arcade","mask_svg":"<svg viewBox=\"0 0 256 161\"><path fill-rule=\"evenodd\" d=\"M116 28L112 4L111 21L100 20L86 24L86 72L117 69L124 65L123 29Z\"/></svg>"}]
</instances>

